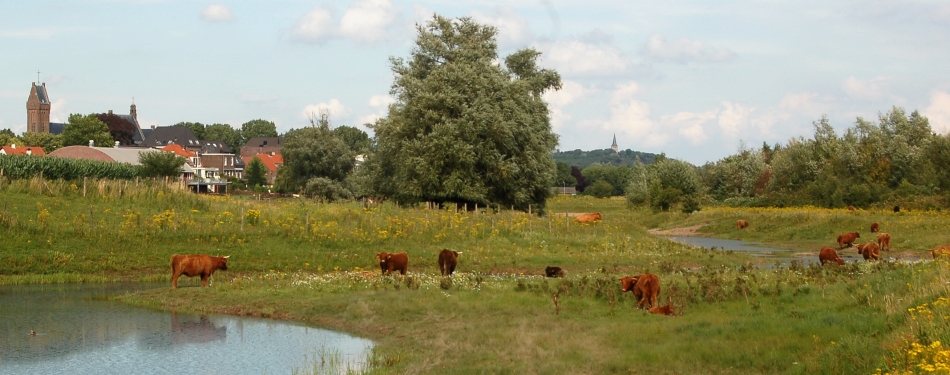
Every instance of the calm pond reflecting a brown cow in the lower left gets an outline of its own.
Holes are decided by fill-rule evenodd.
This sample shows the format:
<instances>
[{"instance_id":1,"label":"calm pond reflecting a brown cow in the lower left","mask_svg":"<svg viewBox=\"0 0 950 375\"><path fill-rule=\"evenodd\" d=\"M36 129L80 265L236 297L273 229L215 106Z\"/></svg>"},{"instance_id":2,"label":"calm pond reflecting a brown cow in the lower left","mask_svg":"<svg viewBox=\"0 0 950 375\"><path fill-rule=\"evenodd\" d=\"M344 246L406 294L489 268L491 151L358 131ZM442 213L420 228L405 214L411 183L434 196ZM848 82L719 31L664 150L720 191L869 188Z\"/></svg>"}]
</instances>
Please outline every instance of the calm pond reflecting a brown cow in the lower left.
<instances>
[{"instance_id":1,"label":"calm pond reflecting a brown cow in the lower left","mask_svg":"<svg viewBox=\"0 0 950 375\"><path fill-rule=\"evenodd\" d=\"M0 374L309 373L328 353L358 368L373 346L292 323L160 312L101 297L148 287L168 285L0 286Z\"/></svg>"}]
</instances>

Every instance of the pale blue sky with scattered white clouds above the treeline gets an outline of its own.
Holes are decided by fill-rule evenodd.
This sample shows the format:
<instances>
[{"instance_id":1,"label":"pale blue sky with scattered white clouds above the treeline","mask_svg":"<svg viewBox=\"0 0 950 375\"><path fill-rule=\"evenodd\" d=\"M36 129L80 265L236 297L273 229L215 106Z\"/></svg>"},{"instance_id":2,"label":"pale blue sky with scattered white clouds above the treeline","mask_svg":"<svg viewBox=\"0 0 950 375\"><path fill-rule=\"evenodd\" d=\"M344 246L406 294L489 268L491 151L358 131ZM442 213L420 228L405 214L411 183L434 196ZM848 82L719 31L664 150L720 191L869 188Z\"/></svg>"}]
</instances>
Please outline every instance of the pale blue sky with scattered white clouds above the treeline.
<instances>
[{"instance_id":1,"label":"pale blue sky with scattered white clouds above the treeline","mask_svg":"<svg viewBox=\"0 0 950 375\"><path fill-rule=\"evenodd\" d=\"M26 131L31 82L51 121L128 113L140 124L273 121L327 109L332 125L385 117L391 57L434 13L496 26L499 57L542 53L562 151L660 153L696 165L741 148L839 134L897 106L950 132L945 1L7 1L0 129Z\"/></svg>"}]
</instances>

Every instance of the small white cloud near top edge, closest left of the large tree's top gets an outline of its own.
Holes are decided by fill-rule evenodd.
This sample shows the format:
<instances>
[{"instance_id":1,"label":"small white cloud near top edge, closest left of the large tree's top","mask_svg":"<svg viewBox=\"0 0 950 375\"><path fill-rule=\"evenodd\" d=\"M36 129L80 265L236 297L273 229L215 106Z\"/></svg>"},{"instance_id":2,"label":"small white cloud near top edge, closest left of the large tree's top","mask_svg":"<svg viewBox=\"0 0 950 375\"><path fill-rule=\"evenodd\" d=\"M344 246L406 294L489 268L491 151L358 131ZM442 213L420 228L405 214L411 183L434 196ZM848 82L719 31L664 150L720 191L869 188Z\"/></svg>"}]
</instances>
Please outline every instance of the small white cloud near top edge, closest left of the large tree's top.
<instances>
[{"instance_id":1,"label":"small white cloud near top edge, closest left of the large tree's top","mask_svg":"<svg viewBox=\"0 0 950 375\"><path fill-rule=\"evenodd\" d=\"M389 39L399 13L391 0L357 1L340 19L340 35L358 43Z\"/></svg>"}]
</instances>

